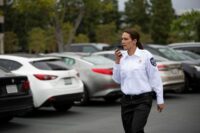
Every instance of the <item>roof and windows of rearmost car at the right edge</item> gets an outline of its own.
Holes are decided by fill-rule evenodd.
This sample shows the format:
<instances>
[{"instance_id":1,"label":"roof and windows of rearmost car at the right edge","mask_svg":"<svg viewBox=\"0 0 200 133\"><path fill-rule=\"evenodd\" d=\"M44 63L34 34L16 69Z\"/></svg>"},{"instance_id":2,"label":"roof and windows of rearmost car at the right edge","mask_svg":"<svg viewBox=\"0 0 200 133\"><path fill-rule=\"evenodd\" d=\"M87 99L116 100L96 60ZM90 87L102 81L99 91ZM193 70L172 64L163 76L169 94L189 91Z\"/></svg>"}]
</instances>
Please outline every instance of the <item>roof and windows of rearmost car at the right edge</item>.
<instances>
[{"instance_id":1,"label":"roof and windows of rearmost car at the right edge","mask_svg":"<svg viewBox=\"0 0 200 133\"><path fill-rule=\"evenodd\" d=\"M171 43L168 46L173 49L187 50L200 55L200 42Z\"/></svg>"}]
</instances>

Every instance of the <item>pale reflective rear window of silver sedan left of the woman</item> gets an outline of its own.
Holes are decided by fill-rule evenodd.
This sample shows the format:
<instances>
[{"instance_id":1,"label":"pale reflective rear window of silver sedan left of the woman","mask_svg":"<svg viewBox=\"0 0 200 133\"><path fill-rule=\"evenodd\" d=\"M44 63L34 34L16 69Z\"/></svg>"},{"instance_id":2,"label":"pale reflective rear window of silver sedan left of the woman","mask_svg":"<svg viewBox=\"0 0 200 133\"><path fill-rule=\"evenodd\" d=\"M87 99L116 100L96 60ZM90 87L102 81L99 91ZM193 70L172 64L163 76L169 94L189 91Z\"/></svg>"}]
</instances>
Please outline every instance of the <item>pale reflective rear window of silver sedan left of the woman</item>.
<instances>
[{"instance_id":1,"label":"pale reflective rear window of silver sedan left of the woman","mask_svg":"<svg viewBox=\"0 0 200 133\"><path fill-rule=\"evenodd\" d=\"M113 64L112 60L103 56L84 56L82 59L95 65Z\"/></svg>"}]
</instances>

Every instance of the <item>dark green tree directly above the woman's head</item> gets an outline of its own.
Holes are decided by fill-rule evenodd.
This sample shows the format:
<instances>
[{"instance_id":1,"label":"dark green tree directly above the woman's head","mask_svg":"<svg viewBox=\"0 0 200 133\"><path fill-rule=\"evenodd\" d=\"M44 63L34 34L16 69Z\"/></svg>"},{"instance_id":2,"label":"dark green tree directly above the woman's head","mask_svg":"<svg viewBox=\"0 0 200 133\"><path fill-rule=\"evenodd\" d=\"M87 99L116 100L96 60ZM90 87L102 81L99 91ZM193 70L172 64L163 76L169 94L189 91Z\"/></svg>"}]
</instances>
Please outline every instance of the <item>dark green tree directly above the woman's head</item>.
<instances>
[{"instance_id":1,"label":"dark green tree directly above the woman's head","mask_svg":"<svg viewBox=\"0 0 200 133\"><path fill-rule=\"evenodd\" d=\"M147 0L128 0L125 3L126 23L133 27L139 25L142 32L149 32L150 18Z\"/></svg>"}]
</instances>

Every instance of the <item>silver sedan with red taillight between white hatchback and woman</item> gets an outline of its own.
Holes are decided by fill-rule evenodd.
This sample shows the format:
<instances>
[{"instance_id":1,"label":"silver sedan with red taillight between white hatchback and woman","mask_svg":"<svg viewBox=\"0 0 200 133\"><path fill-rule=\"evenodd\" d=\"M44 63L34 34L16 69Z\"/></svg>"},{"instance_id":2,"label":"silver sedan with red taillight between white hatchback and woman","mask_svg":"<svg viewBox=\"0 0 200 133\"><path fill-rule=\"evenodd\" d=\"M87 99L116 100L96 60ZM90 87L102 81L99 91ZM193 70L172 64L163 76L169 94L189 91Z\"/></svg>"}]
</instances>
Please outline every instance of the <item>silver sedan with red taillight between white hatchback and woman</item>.
<instances>
[{"instance_id":1,"label":"silver sedan with red taillight between white hatchback and woman","mask_svg":"<svg viewBox=\"0 0 200 133\"><path fill-rule=\"evenodd\" d=\"M81 104L87 104L92 98L104 98L113 102L121 96L119 84L112 80L114 61L103 56L90 56L73 53L54 53L51 56L62 60L79 73L84 83L84 97Z\"/></svg>"}]
</instances>

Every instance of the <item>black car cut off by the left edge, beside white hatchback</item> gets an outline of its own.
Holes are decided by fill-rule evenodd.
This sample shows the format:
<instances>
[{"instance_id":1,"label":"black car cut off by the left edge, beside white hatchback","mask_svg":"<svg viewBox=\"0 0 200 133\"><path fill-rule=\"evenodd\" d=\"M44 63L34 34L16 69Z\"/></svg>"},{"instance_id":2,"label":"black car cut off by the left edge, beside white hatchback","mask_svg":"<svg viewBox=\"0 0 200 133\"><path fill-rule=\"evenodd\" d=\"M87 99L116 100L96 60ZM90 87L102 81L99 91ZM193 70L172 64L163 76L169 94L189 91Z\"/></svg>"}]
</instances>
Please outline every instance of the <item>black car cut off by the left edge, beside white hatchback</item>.
<instances>
[{"instance_id":1,"label":"black car cut off by the left edge, beside white hatchback","mask_svg":"<svg viewBox=\"0 0 200 133\"><path fill-rule=\"evenodd\" d=\"M0 67L0 123L30 111L33 99L26 76L17 76Z\"/></svg>"}]
</instances>

